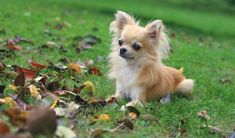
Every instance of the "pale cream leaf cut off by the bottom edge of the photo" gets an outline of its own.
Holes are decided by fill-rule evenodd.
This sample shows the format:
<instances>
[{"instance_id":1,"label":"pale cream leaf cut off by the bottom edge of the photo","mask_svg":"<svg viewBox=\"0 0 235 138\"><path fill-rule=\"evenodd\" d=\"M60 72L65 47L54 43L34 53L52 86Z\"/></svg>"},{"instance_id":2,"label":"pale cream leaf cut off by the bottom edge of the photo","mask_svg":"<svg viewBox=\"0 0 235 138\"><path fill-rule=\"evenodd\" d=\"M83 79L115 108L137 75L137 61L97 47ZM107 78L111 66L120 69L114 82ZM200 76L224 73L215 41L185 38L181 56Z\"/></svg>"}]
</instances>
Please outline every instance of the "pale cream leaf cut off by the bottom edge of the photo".
<instances>
[{"instance_id":1,"label":"pale cream leaf cut off by the bottom edge of the photo","mask_svg":"<svg viewBox=\"0 0 235 138\"><path fill-rule=\"evenodd\" d=\"M77 135L70 128L65 126L58 126L55 135L60 138L77 138Z\"/></svg>"}]
</instances>

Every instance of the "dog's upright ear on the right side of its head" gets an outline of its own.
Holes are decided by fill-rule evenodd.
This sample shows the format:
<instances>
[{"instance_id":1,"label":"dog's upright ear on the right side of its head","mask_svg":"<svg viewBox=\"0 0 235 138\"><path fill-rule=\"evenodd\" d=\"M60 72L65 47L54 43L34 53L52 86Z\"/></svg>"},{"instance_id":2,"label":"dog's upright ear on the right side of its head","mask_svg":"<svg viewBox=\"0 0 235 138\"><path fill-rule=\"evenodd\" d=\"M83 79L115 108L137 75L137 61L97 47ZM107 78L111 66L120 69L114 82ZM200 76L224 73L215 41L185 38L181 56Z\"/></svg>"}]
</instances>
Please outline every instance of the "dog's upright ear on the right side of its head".
<instances>
[{"instance_id":1,"label":"dog's upright ear on the right side of its head","mask_svg":"<svg viewBox=\"0 0 235 138\"><path fill-rule=\"evenodd\" d=\"M160 36L163 29L162 20L155 20L145 26L147 29L147 35L150 38L157 38Z\"/></svg>"}]
</instances>

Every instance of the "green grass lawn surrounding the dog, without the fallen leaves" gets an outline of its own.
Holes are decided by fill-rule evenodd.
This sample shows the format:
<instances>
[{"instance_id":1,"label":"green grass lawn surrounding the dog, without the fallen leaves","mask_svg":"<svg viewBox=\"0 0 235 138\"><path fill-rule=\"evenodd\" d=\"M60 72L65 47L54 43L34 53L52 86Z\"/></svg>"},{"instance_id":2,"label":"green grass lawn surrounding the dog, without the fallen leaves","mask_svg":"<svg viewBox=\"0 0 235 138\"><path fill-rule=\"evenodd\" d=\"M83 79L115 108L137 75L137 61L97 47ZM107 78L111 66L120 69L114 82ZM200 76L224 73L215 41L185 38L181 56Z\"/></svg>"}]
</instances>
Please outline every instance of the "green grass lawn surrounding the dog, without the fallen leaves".
<instances>
[{"instance_id":1,"label":"green grass lawn surrounding the dog, without the fallen leaves","mask_svg":"<svg viewBox=\"0 0 235 138\"><path fill-rule=\"evenodd\" d=\"M154 3L154 4L153 4ZM128 5L128 6L126 6ZM107 57L110 49L109 23L113 20L116 10L125 10L143 19L142 23L155 18L163 19L171 33L173 53L165 64L176 68L184 67L185 75L196 81L193 99L174 96L171 104L160 105L150 102L146 108L138 107L142 114L149 113L159 118L159 123L137 120L134 130L124 133L107 133L104 137L172 137L178 134L179 128L187 130L188 137L219 137L209 133L207 129L200 129L205 124L197 112L207 110L211 119L207 122L212 126L219 126L226 135L235 127L235 16L210 11L197 11L180 7L167 6L156 2L141 1L29 1L2 0L0 1L0 30L5 29L6 35L0 34L1 40L13 38L15 35L31 39L34 44L22 45L24 50L15 52L12 58L3 60L5 64L17 64L29 67L28 59L47 64L47 60L57 63L61 58L68 58L71 62L93 59L100 68L101 77L85 75L82 81L91 80L96 87L97 97L108 97L114 93L114 84L107 79L108 61L98 62L97 56ZM30 16L27 14L30 13ZM53 26L56 18L71 24L58 31ZM47 26L46 23L51 24ZM44 34L49 28L52 36ZM98 28L93 31L92 28ZM76 53L72 45L72 38L94 34L102 39L88 51ZM33 52L47 41L54 41L64 45L68 52L61 52L57 48ZM45 72L50 70L45 70ZM67 76L64 83L73 86L74 82ZM229 77L232 83L221 84L221 78ZM0 78L3 84L12 82ZM76 83L75 83L76 84ZM81 85L81 84L76 84ZM124 117L117 106L108 106L97 111L99 115L107 113L111 121L98 122L92 126L86 123L86 117L78 116L77 134L87 137L91 128L114 128L114 122ZM85 118L85 119L81 119ZM184 123L182 123L182 120Z\"/></svg>"}]
</instances>

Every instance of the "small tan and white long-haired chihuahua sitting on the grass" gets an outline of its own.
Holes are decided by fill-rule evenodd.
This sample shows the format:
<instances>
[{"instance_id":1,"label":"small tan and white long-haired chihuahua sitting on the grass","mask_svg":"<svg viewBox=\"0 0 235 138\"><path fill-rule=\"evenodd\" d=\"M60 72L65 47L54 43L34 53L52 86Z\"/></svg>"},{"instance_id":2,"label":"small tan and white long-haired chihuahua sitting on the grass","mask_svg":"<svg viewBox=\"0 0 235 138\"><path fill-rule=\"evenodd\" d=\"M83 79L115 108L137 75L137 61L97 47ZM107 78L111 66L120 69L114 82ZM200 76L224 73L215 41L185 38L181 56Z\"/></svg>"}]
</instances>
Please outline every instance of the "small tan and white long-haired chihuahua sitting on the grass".
<instances>
[{"instance_id":1,"label":"small tan and white long-haired chihuahua sitting on the grass","mask_svg":"<svg viewBox=\"0 0 235 138\"><path fill-rule=\"evenodd\" d=\"M168 93L191 94L193 80L162 63L170 49L162 21L141 27L125 12L118 11L115 17L110 24L113 40L109 73L116 82L114 97L128 97L131 101L126 106L134 106Z\"/></svg>"}]
</instances>

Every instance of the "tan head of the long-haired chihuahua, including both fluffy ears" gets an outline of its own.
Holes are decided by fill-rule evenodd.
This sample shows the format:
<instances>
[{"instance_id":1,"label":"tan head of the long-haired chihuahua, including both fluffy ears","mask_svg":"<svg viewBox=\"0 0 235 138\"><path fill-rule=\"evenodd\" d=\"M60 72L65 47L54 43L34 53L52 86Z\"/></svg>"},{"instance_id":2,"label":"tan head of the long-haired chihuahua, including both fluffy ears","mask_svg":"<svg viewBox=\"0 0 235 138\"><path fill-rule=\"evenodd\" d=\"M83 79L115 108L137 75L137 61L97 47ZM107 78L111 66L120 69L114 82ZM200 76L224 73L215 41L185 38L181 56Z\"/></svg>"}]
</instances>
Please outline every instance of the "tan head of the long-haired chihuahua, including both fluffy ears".
<instances>
[{"instance_id":1,"label":"tan head of the long-haired chihuahua, including both fluffy ears","mask_svg":"<svg viewBox=\"0 0 235 138\"><path fill-rule=\"evenodd\" d=\"M114 34L113 45L116 52L127 61L142 58L165 58L169 43L161 20L155 20L145 27L125 12L118 11L110 24Z\"/></svg>"}]
</instances>

